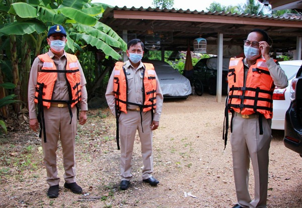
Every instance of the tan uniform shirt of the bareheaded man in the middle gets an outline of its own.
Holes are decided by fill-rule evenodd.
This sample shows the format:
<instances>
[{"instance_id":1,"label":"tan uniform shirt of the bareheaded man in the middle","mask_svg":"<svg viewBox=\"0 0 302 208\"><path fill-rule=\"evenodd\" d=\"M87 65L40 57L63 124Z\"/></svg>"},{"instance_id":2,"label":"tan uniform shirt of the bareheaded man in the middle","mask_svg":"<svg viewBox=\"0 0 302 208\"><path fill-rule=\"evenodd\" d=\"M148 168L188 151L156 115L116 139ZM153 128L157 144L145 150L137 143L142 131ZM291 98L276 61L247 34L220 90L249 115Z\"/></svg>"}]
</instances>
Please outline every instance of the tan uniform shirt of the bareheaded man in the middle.
<instances>
[{"instance_id":1,"label":"tan uniform shirt of the bareheaded man in the middle","mask_svg":"<svg viewBox=\"0 0 302 208\"><path fill-rule=\"evenodd\" d=\"M137 103L137 104L143 104L143 93L142 93L142 84L143 84L143 68L144 65L142 62L140 62L139 66L135 69L130 61L126 61L126 64L124 65L126 73L127 74L127 81L128 81L128 101ZM154 114L154 121L160 121L160 117L162 114L162 108L163 108L163 92L160 87L160 81L158 79L158 76L156 75L157 85L156 85L156 109ZM112 71L112 74L110 76L110 79L108 81L108 86L106 90L106 99L108 102L108 106L112 112L112 114L115 116L115 96L114 96L114 69ZM136 109L137 106L128 105L127 109Z\"/></svg>"}]
</instances>

